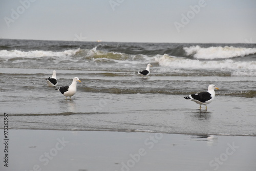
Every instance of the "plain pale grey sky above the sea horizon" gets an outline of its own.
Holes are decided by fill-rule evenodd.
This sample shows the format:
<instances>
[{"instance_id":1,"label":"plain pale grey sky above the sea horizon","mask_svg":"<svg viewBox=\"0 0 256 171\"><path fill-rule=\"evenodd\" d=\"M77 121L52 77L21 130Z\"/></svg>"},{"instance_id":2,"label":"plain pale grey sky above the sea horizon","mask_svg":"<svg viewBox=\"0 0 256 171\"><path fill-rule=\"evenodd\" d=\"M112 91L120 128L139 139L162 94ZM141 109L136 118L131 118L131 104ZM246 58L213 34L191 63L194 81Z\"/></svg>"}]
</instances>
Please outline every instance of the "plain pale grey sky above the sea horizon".
<instances>
[{"instance_id":1,"label":"plain pale grey sky above the sea horizon","mask_svg":"<svg viewBox=\"0 0 256 171\"><path fill-rule=\"evenodd\" d=\"M255 0L0 1L0 38L255 42Z\"/></svg>"}]
</instances>

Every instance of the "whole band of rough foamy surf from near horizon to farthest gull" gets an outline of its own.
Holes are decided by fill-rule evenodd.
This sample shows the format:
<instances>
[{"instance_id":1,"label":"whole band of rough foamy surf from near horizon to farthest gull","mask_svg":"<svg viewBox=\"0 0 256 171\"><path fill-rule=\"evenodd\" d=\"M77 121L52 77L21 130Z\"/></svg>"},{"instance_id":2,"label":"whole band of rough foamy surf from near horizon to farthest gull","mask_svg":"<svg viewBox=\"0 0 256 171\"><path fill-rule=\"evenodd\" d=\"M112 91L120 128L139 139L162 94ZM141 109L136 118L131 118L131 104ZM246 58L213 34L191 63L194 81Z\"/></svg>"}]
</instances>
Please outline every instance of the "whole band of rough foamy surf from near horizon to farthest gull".
<instances>
[{"instance_id":1,"label":"whole band of rough foamy surf from near horizon to farthest gull","mask_svg":"<svg viewBox=\"0 0 256 171\"><path fill-rule=\"evenodd\" d=\"M211 71L223 72L230 76L256 76L256 48L253 45L216 45L216 44L135 44L135 43L81 43L75 46L60 45L31 47L0 46L0 60L5 67L15 68L52 68L104 70L134 73L144 70L147 63L152 63L152 74L175 72L197 73L199 76ZM85 45L82 45L85 44ZM45 45L44 45L45 46ZM2 47L2 50L1 50ZM24 47L24 46L23 46ZM63 48L61 48L63 47ZM3 49L6 48L6 49ZM46 50L51 49L51 50ZM166 52L161 54L162 52ZM2 58L2 59L1 59ZM40 60L38 60L40 59ZM36 60L31 65L31 60ZM51 61L51 63L48 63ZM54 65L53 65L54 63ZM75 63L75 65L71 65ZM93 66L97 65L95 68ZM75 67L74 67L75 66ZM203 71L200 74L198 71ZM208 75L208 74L206 74Z\"/></svg>"}]
</instances>

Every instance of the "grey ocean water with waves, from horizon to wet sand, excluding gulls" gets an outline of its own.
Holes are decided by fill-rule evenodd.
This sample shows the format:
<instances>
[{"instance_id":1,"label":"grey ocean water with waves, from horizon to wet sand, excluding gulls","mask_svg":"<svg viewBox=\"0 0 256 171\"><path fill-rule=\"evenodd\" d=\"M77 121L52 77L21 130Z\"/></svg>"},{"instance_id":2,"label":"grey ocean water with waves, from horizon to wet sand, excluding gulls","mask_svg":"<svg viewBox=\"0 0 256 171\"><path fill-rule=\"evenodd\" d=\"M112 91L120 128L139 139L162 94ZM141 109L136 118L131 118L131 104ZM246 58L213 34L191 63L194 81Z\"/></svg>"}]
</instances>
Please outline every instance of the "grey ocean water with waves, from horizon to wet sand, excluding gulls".
<instances>
[{"instance_id":1,"label":"grey ocean water with waves, from horizon to wet sand, excluding gulls","mask_svg":"<svg viewBox=\"0 0 256 171\"><path fill-rule=\"evenodd\" d=\"M9 129L256 136L256 44L0 39L0 62ZM71 101L53 70L58 86L81 80ZM209 84L207 111L184 100Z\"/></svg>"}]
</instances>

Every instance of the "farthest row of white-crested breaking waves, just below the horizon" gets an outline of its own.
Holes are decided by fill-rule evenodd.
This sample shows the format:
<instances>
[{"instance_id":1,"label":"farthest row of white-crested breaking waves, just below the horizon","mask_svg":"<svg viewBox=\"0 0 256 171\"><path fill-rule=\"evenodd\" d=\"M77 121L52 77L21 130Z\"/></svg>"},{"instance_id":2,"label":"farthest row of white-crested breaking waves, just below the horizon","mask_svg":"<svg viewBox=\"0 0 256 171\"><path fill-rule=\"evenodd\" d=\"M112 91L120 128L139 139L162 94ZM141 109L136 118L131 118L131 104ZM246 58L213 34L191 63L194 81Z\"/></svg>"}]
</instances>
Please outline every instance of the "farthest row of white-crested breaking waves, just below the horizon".
<instances>
[{"instance_id":1,"label":"farthest row of white-crested breaking waves, just below the horizon","mask_svg":"<svg viewBox=\"0 0 256 171\"><path fill-rule=\"evenodd\" d=\"M129 48L127 48L129 49ZM120 50L120 49L119 49ZM136 50L135 50L136 51ZM176 57L185 57L185 58L196 58L196 59L226 59L226 58L234 58L234 57L244 57L248 55L256 54L256 48L238 48L232 46L225 46L225 47L200 47L197 46L190 46L190 47L183 47L181 48L173 48L159 51L158 49L155 50L156 52L164 52L164 53L156 53L153 54L152 52L143 53L141 51L139 54L135 54L134 52L128 52L127 50L121 49L121 51L109 51L109 50L98 50L97 46L92 49L69 49L69 50L62 50L62 51L44 51L44 50L31 50L31 51L22 51L22 50L0 50L1 57L45 57L45 56L84 56L84 57L93 57L93 58L109 58L109 59L116 59L116 60L138 60L136 58L138 56L157 56L157 55L172 55ZM182 52L183 51L183 52ZM140 60L140 59L139 59Z\"/></svg>"}]
</instances>

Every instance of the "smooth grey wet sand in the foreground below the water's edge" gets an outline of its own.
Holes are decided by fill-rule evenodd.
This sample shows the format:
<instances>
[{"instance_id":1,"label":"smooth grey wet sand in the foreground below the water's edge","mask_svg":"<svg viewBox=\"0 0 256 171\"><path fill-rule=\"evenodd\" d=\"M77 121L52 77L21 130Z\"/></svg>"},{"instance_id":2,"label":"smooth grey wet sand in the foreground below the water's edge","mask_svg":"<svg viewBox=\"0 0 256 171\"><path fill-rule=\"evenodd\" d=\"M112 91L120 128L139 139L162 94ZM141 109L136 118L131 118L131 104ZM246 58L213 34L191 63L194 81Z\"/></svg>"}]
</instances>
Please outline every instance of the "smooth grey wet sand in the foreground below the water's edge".
<instances>
[{"instance_id":1,"label":"smooth grey wet sand in the foreground below the water's edge","mask_svg":"<svg viewBox=\"0 0 256 171\"><path fill-rule=\"evenodd\" d=\"M9 130L8 167L2 161L0 169L253 171L255 143L250 136Z\"/></svg>"}]
</instances>

